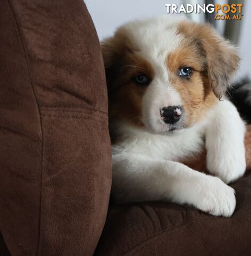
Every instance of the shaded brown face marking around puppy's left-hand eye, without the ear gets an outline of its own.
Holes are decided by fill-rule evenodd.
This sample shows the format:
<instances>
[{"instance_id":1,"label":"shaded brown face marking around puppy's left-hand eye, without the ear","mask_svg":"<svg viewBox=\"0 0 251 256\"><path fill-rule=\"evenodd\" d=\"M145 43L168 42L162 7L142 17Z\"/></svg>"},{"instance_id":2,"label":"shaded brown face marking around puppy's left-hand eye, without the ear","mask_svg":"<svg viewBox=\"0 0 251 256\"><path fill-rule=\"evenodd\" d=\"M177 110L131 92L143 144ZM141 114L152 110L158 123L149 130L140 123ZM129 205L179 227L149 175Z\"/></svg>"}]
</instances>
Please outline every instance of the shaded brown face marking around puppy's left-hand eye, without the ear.
<instances>
[{"instance_id":1,"label":"shaded brown face marking around puppy's left-hand eye, without the ear","mask_svg":"<svg viewBox=\"0 0 251 256\"><path fill-rule=\"evenodd\" d=\"M110 118L123 120L134 126L144 126L141 115L147 84L137 84L133 78L145 74L148 79L152 79L153 69L147 61L137 55L131 55L127 61L124 63L128 65L123 65L121 72L112 81L115 89L109 92Z\"/></svg>"}]
</instances>

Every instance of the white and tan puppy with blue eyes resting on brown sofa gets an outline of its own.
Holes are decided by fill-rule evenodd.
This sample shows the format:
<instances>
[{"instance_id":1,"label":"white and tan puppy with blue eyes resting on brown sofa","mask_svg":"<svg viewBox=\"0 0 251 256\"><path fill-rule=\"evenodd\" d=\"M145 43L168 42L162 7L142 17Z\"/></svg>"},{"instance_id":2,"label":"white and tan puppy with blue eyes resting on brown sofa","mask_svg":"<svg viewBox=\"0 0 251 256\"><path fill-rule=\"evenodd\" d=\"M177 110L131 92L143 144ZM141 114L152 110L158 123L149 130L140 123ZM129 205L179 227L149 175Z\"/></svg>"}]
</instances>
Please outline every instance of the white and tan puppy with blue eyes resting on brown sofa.
<instances>
[{"instance_id":1,"label":"white and tan puppy with blue eyes resting on brown sofa","mask_svg":"<svg viewBox=\"0 0 251 256\"><path fill-rule=\"evenodd\" d=\"M224 97L239 57L208 25L138 20L102 42L117 203L172 201L230 216L245 124ZM207 150L206 175L182 164ZM218 178L219 177L219 178Z\"/></svg>"}]
</instances>

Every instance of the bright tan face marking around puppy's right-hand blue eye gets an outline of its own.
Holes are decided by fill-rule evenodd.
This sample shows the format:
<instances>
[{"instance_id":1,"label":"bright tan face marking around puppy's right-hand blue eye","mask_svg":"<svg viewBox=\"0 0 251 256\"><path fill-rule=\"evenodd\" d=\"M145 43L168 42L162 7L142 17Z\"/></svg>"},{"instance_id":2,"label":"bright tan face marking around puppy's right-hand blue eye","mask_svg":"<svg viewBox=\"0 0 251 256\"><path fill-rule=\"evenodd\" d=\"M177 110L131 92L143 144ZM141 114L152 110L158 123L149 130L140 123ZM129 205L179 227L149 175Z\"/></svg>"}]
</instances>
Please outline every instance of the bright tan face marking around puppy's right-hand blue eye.
<instances>
[{"instance_id":1,"label":"bright tan face marking around puppy's right-hand blue eye","mask_svg":"<svg viewBox=\"0 0 251 256\"><path fill-rule=\"evenodd\" d=\"M166 62L171 85L182 100L186 126L191 126L205 118L206 111L217 102L205 75L205 53L198 45L185 40L175 52L168 55ZM179 76L179 69L184 67L193 69L187 78Z\"/></svg>"}]
</instances>

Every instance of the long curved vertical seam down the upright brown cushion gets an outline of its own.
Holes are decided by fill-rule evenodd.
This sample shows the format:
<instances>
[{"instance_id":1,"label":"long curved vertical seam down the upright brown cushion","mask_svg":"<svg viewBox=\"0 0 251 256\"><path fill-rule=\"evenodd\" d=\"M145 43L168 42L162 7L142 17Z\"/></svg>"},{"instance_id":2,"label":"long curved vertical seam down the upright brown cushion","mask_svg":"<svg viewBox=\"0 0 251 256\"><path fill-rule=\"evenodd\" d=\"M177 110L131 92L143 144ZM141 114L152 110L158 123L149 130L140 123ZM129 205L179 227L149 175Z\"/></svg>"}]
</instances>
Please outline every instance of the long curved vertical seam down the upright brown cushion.
<instances>
[{"instance_id":1,"label":"long curved vertical seam down the upright brown cushion","mask_svg":"<svg viewBox=\"0 0 251 256\"><path fill-rule=\"evenodd\" d=\"M32 80L31 80L31 73L30 73L30 68L29 68L29 61L28 61L28 55L27 55L27 50L26 50L26 46L24 44L24 40L23 40L23 37L22 37L22 33L21 33L21 30L19 28L19 25L18 25L18 20L16 19L16 16L15 16L15 12L14 12L14 7L12 6L10 0L7 0L7 2L9 3L9 6L10 6L10 10L12 12L12 15L13 15L13 18L14 18L14 21L15 21L15 26L16 26L16 29L18 31L18 35L19 35L19 38L20 38L20 41L21 41L21 45L22 45L22 50L23 50L23 53L24 53L24 57L26 59L26 67L27 67L27 71L28 71L28 76L29 76L29 81L30 81L30 85L31 85L31 90L34 94L34 98L36 100L36 104L37 104L37 108L38 108L38 113L39 113L39 119L40 119L40 131L41 131L41 177L40 177L40 202L39 202L39 223L38 223L38 242L37 242L37 251L36 251L36 255L38 255L38 249L39 249L39 245L40 245L40 224L41 224L41 197L42 197L42 185L43 185L43 153L44 153L44 133L43 133L43 125L42 125L42 118L41 118L41 112L40 112L40 109L39 109L39 105L38 105L38 99L37 99L37 95L35 93L35 89L34 89L34 84L32 83Z\"/></svg>"}]
</instances>

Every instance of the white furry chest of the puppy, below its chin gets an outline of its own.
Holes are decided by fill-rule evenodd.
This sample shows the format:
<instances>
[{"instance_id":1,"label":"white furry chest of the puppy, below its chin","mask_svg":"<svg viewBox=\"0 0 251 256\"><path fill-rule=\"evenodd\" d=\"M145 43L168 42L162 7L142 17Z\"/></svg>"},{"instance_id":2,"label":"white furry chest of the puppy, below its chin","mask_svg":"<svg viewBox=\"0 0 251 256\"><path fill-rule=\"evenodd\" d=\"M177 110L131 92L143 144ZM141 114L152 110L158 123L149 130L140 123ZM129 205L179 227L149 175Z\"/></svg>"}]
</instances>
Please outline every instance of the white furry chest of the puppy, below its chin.
<instances>
[{"instance_id":1,"label":"white furry chest of the puppy, below its chin","mask_svg":"<svg viewBox=\"0 0 251 256\"><path fill-rule=\"evenodd\" d=\"M196 126L171 135L138 133L113 147L113 154L144 155L154 159L178 161L202 151L204 129Z\"/></svg>"}]
</instances>

